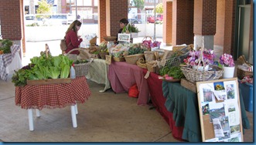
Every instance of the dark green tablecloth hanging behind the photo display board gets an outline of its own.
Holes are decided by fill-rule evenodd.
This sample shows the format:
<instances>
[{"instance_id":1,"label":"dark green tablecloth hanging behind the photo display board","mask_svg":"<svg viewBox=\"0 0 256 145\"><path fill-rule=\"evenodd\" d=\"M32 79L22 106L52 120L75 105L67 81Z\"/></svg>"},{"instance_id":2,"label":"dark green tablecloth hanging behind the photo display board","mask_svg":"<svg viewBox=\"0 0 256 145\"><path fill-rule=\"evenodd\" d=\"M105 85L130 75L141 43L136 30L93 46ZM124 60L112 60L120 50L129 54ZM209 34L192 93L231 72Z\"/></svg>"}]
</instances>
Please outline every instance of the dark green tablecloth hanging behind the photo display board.
<instances>
[{"instance_id":1,"label":"dark green tablecloth hanging behind the photo display board","mask_svg":"<svg viewBox=\"0 0 256 145\"><path fill-rule=\"evenodd\" d=\"M241 91L240 91L241 92ZM173 114L176 126L184 126L183 140L202 141L199 106L196 93L181 86L180 83L162 82L162 93L166 97L166 109ZM250 128L240 93L241 118L244 129Z\"/></svg>"}]
</instances>

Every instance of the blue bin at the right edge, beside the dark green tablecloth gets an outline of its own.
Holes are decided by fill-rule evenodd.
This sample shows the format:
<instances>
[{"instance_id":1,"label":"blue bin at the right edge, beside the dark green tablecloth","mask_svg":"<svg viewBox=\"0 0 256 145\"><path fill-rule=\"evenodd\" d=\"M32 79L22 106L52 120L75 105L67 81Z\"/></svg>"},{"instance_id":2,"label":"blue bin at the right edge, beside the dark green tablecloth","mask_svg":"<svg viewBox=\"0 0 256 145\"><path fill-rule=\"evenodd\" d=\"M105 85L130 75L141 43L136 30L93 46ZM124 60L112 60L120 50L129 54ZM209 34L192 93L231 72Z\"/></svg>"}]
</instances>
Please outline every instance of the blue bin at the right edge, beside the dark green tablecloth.
<instances>
[{"instance_id":1,"label":"blue bin at the right edge, beside the dark green tablecloth","mask_svg":"<svg viewBox=\"0 0 256 145\"><path fill-rule=\"evenodd\" d=\"M244 100L245 110L253 112L253 84L250 83L239 83L239 88Z\"/></svg>"}]
</instances>

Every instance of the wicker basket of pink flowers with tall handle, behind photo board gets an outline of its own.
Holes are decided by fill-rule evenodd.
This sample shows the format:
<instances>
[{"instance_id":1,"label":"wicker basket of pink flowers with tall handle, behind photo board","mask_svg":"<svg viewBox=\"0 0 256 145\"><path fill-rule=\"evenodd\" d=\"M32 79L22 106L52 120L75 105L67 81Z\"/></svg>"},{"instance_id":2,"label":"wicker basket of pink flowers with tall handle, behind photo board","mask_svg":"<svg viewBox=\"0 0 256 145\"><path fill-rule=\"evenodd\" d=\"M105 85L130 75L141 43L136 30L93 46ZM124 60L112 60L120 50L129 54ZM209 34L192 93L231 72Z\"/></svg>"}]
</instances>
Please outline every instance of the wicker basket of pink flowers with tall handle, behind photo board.
<instances>
[{"instance_id":1,"label":"wicker basket of pink flowers with tall handle, behind photo board","mask_svg":"<svg viewBox=\"0 0 256 145\"><path fill-rule=\"evenodd\" d=\"M193 50L189 52L187 59L184 59L186 66L180 69L190 82L219 79L222 76L223 69L213 66L214 57L215 55L212 50L204 49L202 46L200 51Z\"/></svg>"}]
</instances>

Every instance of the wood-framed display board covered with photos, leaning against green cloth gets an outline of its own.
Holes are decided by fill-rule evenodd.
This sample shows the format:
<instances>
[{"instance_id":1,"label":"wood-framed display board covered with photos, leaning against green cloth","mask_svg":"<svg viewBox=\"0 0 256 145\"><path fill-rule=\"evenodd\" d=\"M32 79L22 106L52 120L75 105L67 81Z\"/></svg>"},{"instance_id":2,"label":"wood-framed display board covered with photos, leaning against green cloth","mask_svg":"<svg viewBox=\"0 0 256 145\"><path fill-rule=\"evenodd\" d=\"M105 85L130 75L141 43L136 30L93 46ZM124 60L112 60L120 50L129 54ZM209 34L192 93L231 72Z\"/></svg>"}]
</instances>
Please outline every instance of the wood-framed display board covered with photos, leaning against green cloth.
<instances>
[{"instance_id":1,"label":"wood-framed display board covered with photos, leaning against green cloth","mask_svg":"<svg viewBox=\"0 0 256 145\"><path fill-rule=\"evenodd\" d=\"M196 82L203 142L243 142L237 78Z\"/></svg>"}]
</instances>

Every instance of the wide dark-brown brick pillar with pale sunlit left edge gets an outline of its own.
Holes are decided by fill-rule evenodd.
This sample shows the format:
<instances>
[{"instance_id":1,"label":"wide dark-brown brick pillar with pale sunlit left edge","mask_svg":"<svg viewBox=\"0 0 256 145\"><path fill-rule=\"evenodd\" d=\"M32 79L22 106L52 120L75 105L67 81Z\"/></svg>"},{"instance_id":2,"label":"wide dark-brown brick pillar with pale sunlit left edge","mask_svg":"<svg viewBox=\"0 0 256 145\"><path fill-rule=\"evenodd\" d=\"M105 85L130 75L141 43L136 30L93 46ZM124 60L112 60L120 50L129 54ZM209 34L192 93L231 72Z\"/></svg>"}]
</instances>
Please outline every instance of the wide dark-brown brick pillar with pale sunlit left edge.
<instances>
[{"instance_id":1,"label":"wide dark-brown brick pillar with pale sunlit left edge","mask_svg":"<svg viewBox=\"0 0 256 145\"><path fill-rule=\"evenodd\" d=\"M172 46L193 44L193 2L172 1Z\"/></svg>"}]
</instances>

